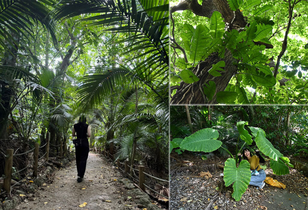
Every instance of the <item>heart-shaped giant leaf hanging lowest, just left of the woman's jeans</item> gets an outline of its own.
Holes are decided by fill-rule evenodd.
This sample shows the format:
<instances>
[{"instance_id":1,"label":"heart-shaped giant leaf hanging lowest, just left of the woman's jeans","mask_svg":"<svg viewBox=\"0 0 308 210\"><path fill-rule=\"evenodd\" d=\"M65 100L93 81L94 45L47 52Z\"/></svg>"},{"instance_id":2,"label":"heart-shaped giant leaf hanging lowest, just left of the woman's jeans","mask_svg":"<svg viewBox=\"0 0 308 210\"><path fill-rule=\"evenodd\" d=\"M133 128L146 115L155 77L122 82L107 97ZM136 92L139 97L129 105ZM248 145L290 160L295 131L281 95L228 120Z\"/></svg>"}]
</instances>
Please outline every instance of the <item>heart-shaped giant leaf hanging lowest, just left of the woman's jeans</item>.
<instances>
[{"instance_id":1,"label":"heart-shaped giant leaf hanging lowest, just left of the woman's jeans","mask_svg":"<svg viewBox=\"0 0 308 210\"><path fill-rule=\"evenodd\" d=\"M224 167L224 181L225 186L228 187L233 184L232 197L239 201L248 188L250 182L250 164L247 160L242 160L238 168L236 167L235 160L233 158L228 158L225 161Z\"/></svg>"}]
</instances>

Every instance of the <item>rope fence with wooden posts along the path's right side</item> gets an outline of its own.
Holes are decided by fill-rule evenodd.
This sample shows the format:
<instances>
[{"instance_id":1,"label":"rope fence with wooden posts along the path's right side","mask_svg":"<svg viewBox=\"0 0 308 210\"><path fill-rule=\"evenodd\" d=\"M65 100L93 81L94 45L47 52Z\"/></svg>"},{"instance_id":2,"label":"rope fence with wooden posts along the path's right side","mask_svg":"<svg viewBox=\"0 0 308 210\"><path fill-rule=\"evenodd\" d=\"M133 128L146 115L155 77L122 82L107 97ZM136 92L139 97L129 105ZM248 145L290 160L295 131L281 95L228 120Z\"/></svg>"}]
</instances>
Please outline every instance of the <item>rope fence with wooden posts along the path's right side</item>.
<instances>
[{"instance_id":1,"label":"rope fence with wooden posts along the path's right side","mask_svg":"<svg viewBox=\"0 0 308 210\"><path fill-rule=\"evenodd\" d=\"M94 150L93 150L94 151ZM112 154L109 153L109 151L106 151L106 150L102 150L99 148L99 154L103 154L105 157L109 157L111 158L112 160L114 160L114 156ZM152 176L146 172L144 172L144 166L142 165L139 165L138 168L139 169L136 169L136 168L133 168L130 166L130 163L128 160L125 160L124 163L120 162L119 160L116 161L116 164L117 164L117 168L119 168L122 172L124 172L125 174L128 175L128 177L130 177L132 179L133 182L136 182L136 183L139 183L139 187L141 190L143 190L145 192L145 188L148 188L150 189L152 192L155 192L156 194L160 195L160 196L163 196L164 198L166 199L169 199L167 196L157 192L156 190L152 189L151 187L149 187L147 184L145 184L145 177L144 175L147 175L149 177L152 177L153 179L156 179L156 180L159 180L159 181L162 181L164 183L168 183L168 186L169 187L169 181L168 180L164 180L164 179L160 179L158 177L155 177L155 176ZM124 169L121 168L120 166L121 165L124 165ZM132 175L130 175L130 169L132 169L132 172L133 172L133 175L136 176L136 178ZM136 175L135 171L138 171L139 172L139 176ZM167 187L164 187L164 188L167 188Z\"/></svg>"}]
</instances>

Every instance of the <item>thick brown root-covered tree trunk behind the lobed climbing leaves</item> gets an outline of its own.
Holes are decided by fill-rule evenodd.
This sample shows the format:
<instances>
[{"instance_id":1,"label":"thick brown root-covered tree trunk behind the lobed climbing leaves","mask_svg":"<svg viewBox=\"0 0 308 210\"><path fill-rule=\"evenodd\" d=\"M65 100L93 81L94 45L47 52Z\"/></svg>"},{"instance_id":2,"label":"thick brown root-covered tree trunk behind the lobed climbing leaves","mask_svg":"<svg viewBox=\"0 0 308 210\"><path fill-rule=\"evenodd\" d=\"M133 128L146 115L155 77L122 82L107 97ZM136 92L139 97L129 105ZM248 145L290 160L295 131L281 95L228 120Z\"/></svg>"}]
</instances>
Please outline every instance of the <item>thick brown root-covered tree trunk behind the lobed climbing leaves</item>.
<instances>
[{"instance_id":1,"label":"thick brown root-covered tree trunk behind the lobed climbing leaves","mask_svg":"<svg viewBox=\"0 0 308 210\"><path fill-rule=\"evenodd\" d=\"M199 16L205 16L208 18L210 18L213 11L216 10L222 14L226 23L226 28L229 31L233 29L240 30L240 28L244 28L246 25L241 11L237 10L233 12L230 10L226 0L203 0L202 5L198 4L195 0L184 0L180 2L179 5L171 8L171 12L177 10L191 10ZM209 75L208 71L212 68L212 64L215 64L218 61L225 61L225 72L221 73L221 77ZM180 86L172 87L172 89L177 89L177 91L172 96L171 104L216 104L216 93L224 91L231 78L237 72L237 67L233 65L233 63L238 63L238 60L232 57L229 50L226 50L224 58L220 58L217 56L217 53L213 53L205 59L205 61L200 61L193 69L193 73L195 73L200 80L193 84L187 84L182 81ZM216 84L216 91L211 101L207 99L204 100L203 93L203 85L208 83L210 80L214 81Z\"/></svg>"}]
</instances>

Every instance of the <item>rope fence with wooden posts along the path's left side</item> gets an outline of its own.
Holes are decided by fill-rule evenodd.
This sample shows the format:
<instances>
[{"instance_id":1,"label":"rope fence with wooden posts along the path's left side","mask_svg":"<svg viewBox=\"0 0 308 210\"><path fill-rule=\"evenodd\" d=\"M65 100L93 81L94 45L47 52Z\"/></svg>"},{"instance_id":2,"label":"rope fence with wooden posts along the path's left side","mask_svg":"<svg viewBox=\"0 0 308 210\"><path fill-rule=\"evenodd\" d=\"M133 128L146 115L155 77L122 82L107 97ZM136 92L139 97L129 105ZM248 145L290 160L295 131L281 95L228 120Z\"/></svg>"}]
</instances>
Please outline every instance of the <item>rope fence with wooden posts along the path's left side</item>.
<instances>
[{"instance_id":1,"label":"rope fence with wooden posts along the path's left side","mask_svg":"<svg viewBox=\"0 0 308 210\"><path fill-rule=\"evenodd\" d=\"M16 156L20 156L20 155L24 155L30 152L33 152L33 170L31 170L27 176L29 176L31 173L34 177L37 177L38 175L38 168L42 167L44 165L45 162L48 162L48 157L49 157L49 148L50 146L54 146L54 147L58 147L60 146L60 151L57 152L57 154L60 154L60 158L63 155L63 142L61 141L59 145L52 145L49 143L50 141L50 133L47 133L46 135L46 143L42 146L39 146L39 143L34 143L34 148L30 149L29 151L25 152L25 153L21 153L21 154L14 154L14 150L13 149L6 149L6 160L5 160L5 169L4 169L4 177L0 177L0 180L3 180L3 189L4 191L0 193L4 194L4 193L10 193L11 192L11 187L14 187L16 184L20 183L22 180L18 181L17 183L15 183L14 185L11 186L11 180L12 180L12 176L21 176L24 174L27 174L27 172L20 174L19 172L24 171L26 168L32 168L32 167L28 167L26 166L25 168L22 168L21 170L12 173L12 166L13 166L13 157ZM66 146L66 145L65 145ZM45 153L43 155L41 155L42 153L39 153L39 148L43 148L45 147ZM17 151L17 150L16 150ZM15 153L16 153L15 151ZM40 154L40 158L39 158L39 154ZM45 158L45 160L38 166L39 160L41 160L42 158Z\"/></svg>"}]
</instances>

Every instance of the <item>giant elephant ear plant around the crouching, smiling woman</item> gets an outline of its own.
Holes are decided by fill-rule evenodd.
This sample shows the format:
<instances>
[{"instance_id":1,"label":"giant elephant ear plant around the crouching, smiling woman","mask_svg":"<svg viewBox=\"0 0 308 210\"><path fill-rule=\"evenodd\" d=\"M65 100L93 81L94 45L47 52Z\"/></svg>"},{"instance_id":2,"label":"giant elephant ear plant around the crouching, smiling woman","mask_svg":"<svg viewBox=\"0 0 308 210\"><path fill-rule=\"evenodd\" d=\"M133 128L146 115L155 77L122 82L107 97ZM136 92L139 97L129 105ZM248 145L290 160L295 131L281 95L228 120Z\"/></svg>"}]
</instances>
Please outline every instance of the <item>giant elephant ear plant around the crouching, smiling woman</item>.
<instances>
[{"instance_id":1,"label":"giant elephant ear plant around the crouching, smiling woman","mask_svg":"<svg viewBox=\"0 0 308 210\"><path fill-rule=\"evenodd\" d=\"M244 128L248 125L248 122L239 121L237 122L237 130L239 132L239 138L241 138L245 143L242 145L241 151L245 144L251 145L253 141L256 142L259 150L266 156L270 157L270 167L273 169L273 173L277 175L284 175L289 173L289 168L293 167L290 164L290 160L274 148L274 146L266 139L266 134L261 128L249 127L252 136L249 134L248 130ZM192 135L185 137L184 139L174 139L170 141L170 152L173 148L180 147L180 149L186 149L193 152L212 152L221 147L222 142L217 140L219 133L217 130L212 128L201 129ZM238 144L237 144L238 145ZM221 147L225 149L224 147ZM237 167L237 158L235 159L229 150L225 149L226 152L231 156L225 161L224 167L224 181L225 186L228 187L233 183L233 193L232 197L239 201L248 188L250 182L250 164L247 160L242 160Z\"/></svg>"}]
</instances>

